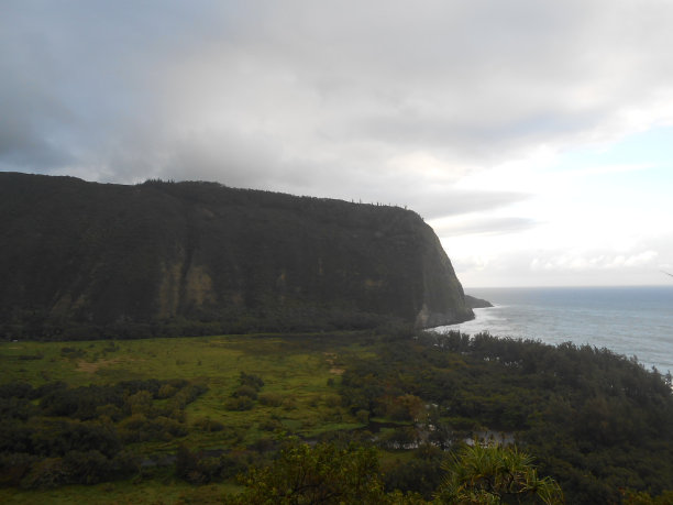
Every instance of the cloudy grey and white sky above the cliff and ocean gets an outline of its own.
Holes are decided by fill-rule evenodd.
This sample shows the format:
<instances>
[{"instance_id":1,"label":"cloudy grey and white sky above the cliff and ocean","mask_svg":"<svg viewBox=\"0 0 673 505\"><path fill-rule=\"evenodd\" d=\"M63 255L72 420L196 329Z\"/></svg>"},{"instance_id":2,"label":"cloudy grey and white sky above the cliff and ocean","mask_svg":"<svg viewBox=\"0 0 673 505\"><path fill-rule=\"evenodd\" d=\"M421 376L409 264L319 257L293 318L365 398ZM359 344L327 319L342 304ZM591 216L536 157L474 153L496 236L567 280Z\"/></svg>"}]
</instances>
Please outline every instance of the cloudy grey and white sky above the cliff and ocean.
<instances>
[{"instance_id":1,"label":"cloudy grey and white sky above the cliff and ocean","mask_svg":"<svg viewBox=\"0 0 673 505\"><path fill-rule=\"evenodd\" d=\"M673 2L1 11L2 172L407 207L467 289L673 283Z\"/></svg>"}]
</instances>

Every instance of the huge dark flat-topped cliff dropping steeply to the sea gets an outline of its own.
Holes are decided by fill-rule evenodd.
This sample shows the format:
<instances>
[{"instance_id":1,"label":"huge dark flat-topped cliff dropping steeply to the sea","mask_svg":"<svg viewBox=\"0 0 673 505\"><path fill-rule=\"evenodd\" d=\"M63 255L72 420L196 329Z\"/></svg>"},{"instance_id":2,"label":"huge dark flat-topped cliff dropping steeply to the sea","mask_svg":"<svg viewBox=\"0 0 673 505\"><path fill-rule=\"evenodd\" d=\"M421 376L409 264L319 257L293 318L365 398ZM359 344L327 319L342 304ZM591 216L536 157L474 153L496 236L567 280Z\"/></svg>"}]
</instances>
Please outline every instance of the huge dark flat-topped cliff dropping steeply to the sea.
<instances>
[{"instance_id":1,"label":"huge dark flat-topped cliff dropping steeply to the sea","mask_svg":"<svg viewBox=\"0 0 673 505\"><path fill-rule=\"evenodd\" d=\"M434 232L393 207L0 174L0 331L98 338L428 327L473 317Z\"/></svg>"}]
</instances>

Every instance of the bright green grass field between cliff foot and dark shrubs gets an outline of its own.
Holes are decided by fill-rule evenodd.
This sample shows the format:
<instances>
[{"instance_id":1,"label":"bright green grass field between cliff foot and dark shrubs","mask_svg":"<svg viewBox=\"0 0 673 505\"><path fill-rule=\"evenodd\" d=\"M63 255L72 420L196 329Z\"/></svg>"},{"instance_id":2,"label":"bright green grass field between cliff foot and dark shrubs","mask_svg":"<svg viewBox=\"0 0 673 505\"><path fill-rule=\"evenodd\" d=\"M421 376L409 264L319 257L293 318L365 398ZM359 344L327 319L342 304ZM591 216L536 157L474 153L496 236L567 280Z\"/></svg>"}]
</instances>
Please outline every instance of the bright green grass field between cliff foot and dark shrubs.
<instances>
[{"instance_id":1,"label":"bright green grass field between cliff foot and dark shrubs","mask_svg":"<svg viewBox=\"0 0 673 505\"><path fill-rule=\"evenodd\" d=\"M310 433L354 422L344 418L340 397L328 382L338 384L349 358L367 351L363 339L352 333L3 342L0 382L37 386L64 381L86 386L132 378L197 380L208 392L188 406L190 420L208 417L254 433L261 421L275 416L288 428ZM261 376L262 396L280 405L257 402L252 410L227 410L224 403L238 387L241 372Z\"/></svg>"}]
</instances>

